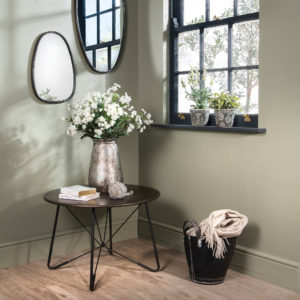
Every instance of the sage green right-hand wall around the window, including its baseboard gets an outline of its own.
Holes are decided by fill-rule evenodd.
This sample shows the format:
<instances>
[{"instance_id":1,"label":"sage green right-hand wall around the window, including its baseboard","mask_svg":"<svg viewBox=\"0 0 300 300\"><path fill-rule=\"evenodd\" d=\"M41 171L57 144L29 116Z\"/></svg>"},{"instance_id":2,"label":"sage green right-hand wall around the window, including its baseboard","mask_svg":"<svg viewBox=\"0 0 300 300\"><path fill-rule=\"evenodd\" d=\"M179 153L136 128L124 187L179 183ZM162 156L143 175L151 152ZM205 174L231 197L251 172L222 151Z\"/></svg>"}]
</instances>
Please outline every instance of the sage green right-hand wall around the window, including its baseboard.
<instances>
[{"instance_id":1,"label":"sage green right-hand wall around the window, including its baseboard","mask_svg":"<svg viewBox=\"0 0 300 300\"><path fill-rule=\"evenodd\" d=\"M139 2L139 99L155 122L167 103L167 2ZM259 126L267 134L152 128L140 137L140 183L161 191L151 206L160 242L181 248L185 219L238 210L249 225L233 266L298 291L299 11L298 0L261 0Z\"/></svg>"}]
</instances>

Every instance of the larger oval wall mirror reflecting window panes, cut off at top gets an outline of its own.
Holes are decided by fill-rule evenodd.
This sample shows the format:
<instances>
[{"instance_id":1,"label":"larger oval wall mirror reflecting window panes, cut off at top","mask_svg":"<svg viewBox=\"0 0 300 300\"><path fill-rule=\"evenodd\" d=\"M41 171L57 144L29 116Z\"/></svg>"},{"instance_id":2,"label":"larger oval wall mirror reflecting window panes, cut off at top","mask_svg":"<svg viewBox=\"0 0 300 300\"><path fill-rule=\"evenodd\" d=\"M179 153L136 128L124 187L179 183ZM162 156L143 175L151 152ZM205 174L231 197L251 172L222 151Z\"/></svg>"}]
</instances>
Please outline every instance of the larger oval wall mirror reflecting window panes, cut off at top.
<instances>
[{"instance_id":1,"label":"larger oval wall mirror reflecting window panes, cut off at top","mask_svg":"<svg viewBox=\"0 0 300 300\"><path fill-rule=\"evenodd\" d=\"M125 0L75 0L78 40L87 64L95 72L110 72L120 61L125 5Z\"/></svg>"}]
</instances>

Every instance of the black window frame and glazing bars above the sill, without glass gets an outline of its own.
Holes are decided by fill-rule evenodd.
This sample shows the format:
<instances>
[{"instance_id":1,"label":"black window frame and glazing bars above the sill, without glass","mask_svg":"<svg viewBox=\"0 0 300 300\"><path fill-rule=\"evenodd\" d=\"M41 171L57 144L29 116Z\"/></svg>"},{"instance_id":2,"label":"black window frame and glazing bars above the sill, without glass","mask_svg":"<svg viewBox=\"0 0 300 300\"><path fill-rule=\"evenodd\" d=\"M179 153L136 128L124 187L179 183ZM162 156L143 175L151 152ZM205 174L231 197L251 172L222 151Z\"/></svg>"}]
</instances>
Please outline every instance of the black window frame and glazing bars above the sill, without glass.
<instances>
[{"instance_id":1,"label":"black window frame and glazing bars above the sill, without glass","mask_svg":"<svg viewBox=\"0 0 300 300\"><path fill-rule=\"evenodd\" d=\"M206 1L206 14L205 21L197 24L184 25L184 0L169 0L169 123L170 124L191 124L189 113L178 113L178 87L179 87L179 75L188 74L188 71L178 71L178 35L182 32L199 30L200 32L200 76L203 78L203 72L228 72L228 90L232 89L232 72L235 70L259 70L259 65L253 66L232 66L232 26L233 24L259 20L259 12L250 14L238 15L238 0L233 1L233 16L224 19L210 20L210 0ZM204 59L201 54L201 49L204 45L204 29L210 27L217 27L227 25L228 26L228 67L226 68L214 68L204 70ZM202 56L202 57L201 57ZM236 127L258 127L258 114L248 114L250 116L250 122L244 120L243 114L236 114L234 125ZM214 114L210 114L208 126L214 126Z\"/></svg>"}]
</instances>

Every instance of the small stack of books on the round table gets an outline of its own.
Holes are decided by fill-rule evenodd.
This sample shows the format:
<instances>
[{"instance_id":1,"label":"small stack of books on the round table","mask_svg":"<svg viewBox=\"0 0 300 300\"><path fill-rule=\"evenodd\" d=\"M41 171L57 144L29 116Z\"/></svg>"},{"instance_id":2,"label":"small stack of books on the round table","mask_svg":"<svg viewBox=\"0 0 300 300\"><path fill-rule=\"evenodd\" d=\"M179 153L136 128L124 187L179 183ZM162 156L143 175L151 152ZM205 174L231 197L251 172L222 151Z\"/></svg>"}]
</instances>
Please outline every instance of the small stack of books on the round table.
<instances>
[{"instance_id":1,"label":"small stack of books on the round table","mask_svg":"<svg viewBox=\"0 0 300 300\"><path fill-rule=\"evenodd\" d=\"M59 198L78 200L78 201L89 201L98 198L100 193L97 193L95 188L82 186L82 185L72 185L60 188Z\"/></svg>"}]
</instances>

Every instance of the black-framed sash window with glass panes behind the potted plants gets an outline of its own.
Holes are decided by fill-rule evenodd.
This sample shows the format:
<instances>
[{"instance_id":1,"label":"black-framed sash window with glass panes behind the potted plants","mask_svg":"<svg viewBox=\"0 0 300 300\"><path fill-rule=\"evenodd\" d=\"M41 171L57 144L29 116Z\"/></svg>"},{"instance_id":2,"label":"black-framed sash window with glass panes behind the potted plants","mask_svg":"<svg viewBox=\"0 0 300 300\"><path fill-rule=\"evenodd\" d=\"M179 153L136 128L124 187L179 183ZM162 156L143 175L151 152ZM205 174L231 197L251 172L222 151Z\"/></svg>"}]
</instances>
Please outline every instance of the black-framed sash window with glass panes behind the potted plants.
<instances>
[{"instance_id":1,"label":"black-framed sash window with glass panes behind the potted plants","mask_svg":"<svg viewBox=\"0 0 300 300\"><path fill-rule=\"evenodd\" d=\"M238 126L257 127L258 11L259 0L170 0L170 123L190 122L181 81L193 68L202 86L239 96Z\"/></svg>"}]
</instances>

